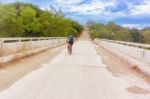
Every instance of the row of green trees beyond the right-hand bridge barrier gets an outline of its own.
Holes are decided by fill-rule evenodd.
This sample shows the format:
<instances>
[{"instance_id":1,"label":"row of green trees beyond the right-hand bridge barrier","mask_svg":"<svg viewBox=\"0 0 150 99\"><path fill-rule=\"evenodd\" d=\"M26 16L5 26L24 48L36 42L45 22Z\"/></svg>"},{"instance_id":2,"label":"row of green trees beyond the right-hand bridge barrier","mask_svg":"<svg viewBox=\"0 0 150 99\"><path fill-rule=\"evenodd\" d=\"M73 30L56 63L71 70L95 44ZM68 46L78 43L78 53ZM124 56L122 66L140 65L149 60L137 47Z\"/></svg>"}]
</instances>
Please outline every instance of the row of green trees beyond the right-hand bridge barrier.
<instances>
[{"instance_id":1,"label":"row of green trees beyond the right-hand bridge barrier","mask_svg":"<svg viewBox=\"0 0 150 99\"><path fill-rule=\"evenodd\" d=\"M88 22L88 27L92 38L98 37L103 39L150 44L150 27L139 30L136 28L130 29L122 27L114 22L102 24L93 21Z\"/></svg>"}]
</instances>

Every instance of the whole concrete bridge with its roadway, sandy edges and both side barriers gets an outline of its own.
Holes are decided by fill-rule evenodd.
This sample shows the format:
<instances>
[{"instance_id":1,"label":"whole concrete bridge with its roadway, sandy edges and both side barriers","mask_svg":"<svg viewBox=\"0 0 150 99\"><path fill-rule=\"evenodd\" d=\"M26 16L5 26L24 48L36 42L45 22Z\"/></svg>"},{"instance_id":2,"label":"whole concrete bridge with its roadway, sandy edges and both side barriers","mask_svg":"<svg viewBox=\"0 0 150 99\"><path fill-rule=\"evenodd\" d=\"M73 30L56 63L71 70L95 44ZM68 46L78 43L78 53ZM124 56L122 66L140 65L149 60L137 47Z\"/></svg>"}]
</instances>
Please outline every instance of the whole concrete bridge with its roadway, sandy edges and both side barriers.
<instances>
[{"instance_id":1,"label":"whole concrete bridge with its roadway, sandy edges and both side barriers","mask_svg":"<svg viewBox=\"0 0 150 99\"><path fill-rule=\"evenodd\" d=\"M0 99L150 99L150 45L95 39L3 38Z\"/></svg>"}]
</instances>

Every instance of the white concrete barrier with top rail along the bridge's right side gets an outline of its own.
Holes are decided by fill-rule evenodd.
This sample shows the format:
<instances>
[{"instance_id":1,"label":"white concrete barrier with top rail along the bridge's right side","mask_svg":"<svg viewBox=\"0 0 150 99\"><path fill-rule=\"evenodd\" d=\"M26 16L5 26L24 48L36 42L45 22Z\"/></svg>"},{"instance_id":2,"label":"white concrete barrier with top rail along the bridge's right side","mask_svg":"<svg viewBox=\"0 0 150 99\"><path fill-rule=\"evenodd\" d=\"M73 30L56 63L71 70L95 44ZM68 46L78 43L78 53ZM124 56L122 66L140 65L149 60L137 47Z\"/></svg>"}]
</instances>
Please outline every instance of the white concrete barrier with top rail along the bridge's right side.
<instances>
[{"instance_id":1,"label":"white concrete barrier with top rail along the bridge's right side","mask_svg":"<svg viewBox=\"0 0 150 99\"><path fill-rule=\"evenodd\" d=\"M95 41L103 46L107 46L110 49L114 49L136 60L150 64L150 50L148 50L150 45L148 44L138 44L106 39L95 39Z\"/></svg>"}]
</instances>

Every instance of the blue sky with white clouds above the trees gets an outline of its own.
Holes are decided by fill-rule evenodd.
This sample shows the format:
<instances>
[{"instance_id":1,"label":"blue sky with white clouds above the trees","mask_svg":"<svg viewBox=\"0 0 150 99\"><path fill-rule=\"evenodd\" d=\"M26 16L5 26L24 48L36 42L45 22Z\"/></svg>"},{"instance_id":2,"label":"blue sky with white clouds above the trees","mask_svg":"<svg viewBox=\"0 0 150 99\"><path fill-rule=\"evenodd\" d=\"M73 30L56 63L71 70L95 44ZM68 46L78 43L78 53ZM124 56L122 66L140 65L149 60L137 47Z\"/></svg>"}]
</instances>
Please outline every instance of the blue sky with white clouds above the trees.
<instances>
[{"instance_id":1,"label":"blue sky with white clouds above the trees","mask_svg":"<svg viewBox=\"0 0 150 99\"><path fill-rule=\"evenodd\" d=\"M82 24L88 20L101 23L116 22L124 27L150 26L150 0L0 0L1 3L29 2L41 9L53 5L66 17Z\"/></svg>"}]
</instances>

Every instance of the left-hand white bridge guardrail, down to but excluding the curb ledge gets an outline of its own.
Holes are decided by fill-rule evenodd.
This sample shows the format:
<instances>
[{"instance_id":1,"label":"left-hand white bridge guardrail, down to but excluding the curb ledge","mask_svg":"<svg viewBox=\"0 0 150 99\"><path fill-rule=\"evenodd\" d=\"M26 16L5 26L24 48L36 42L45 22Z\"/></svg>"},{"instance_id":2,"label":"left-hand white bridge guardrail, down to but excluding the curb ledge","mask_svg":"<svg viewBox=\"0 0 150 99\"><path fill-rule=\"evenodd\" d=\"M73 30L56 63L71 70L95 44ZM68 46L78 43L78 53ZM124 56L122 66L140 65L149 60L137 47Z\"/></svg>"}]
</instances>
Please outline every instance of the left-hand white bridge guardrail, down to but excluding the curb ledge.
<instances>
[{"instance_id":1,"label":"left-hand white bridge guardrail, down to but excluding the curb ledge","mask_svg":"<svg viewBox=\"0 0 150 99\"><path fill-rule=\"evenodd\" d=\"M33 50L54 47L65 43L65 37L0 38L0 57Z\"/></svg>"}]
</instances>

